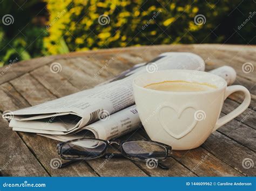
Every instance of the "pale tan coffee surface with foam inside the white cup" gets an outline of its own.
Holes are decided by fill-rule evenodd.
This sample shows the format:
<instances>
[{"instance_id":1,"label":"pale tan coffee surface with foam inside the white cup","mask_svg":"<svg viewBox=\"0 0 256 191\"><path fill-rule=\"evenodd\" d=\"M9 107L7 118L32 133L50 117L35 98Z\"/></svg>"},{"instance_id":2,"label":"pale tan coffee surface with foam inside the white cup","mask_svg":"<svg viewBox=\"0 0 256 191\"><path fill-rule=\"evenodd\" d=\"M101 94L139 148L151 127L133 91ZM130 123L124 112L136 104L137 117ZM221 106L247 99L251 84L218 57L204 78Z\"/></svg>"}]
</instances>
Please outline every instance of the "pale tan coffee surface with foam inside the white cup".
<instances>
[{"instance_id":1,"label":"pale tan coffee surface with foam inside the white cup","mask_svg":"<svg viewBox=\"0 0 256 191\"><path fill-rule=\"evenodd\" d=\"M167 92L203 92L217 88L217 86L208 83L197 83L184 80L161 81L144 87L151 90Z\"/></svg>"}]
</instances>

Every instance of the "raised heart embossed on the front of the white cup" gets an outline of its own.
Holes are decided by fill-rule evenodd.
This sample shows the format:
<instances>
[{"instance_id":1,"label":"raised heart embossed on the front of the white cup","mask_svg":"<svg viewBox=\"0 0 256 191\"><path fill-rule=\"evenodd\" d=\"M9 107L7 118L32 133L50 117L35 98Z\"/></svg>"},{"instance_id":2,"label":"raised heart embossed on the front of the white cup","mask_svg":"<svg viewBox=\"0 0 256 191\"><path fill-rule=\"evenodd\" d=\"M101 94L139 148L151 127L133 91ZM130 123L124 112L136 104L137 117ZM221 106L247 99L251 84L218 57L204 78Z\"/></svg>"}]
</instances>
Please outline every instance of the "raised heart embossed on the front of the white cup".
<instances>
[{"instance_id":1,"label":"raised heart embossed on the front of the white cup","mask_svg":"<svg viewBox=\"0 0 256 191\"><path fill-rule=\"evenodd\" d=\"M180 139L197 125L198 121L194 118L196 111L193 106L176 108L165 105L158 110L158 119L168 134L173 138Z\"/></svg>"}]
</instances>

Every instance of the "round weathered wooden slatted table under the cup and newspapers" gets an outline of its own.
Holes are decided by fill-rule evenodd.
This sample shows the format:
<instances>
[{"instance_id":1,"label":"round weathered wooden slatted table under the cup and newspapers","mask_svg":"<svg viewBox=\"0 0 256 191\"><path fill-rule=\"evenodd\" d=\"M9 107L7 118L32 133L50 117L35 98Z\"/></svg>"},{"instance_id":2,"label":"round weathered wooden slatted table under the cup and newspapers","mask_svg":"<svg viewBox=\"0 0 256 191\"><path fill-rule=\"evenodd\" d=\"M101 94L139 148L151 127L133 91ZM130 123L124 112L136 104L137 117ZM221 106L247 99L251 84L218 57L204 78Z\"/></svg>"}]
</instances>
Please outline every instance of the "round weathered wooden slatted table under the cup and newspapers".
<instances>
[{"instance_id":1,"label":"round weathered wooden slatted table under the cup and newspapers","mask_svg":"<svg viewBox=\"0 0 256 191\"><path fill-rule=\"evenodd\" d=\"M159 53L187 51L199 54L207 61L206 70L230 65L237 71L235 84L250 90L250 107L228 122L206 140L203 146L191 151L174 151L165 164L169 170L149 169L143 162L128 159L90 160L63 169L53 169L50 161L59 158L58 141L33 133L14 132L1 118L0 168L4 176L254 176L255 165L243 167L242 161L256 162L256 69L242 71L242 64L256 66L256 46L243 45L159 45L127 47L87 52L73 52L22 61L1 69L0 109L15 111L91 88L116 76L134 64L149 61ZM102 67L112 59L105 69ZM57 62L58 73L50 71ZM94 74L102 69L95 78ZM221 115L229 113L242 101L242 94L231 95L225 101ZM133 137L141 137L143 129ZM95 170L97 173L95 173Z\"/></svg>"}]
</instances>

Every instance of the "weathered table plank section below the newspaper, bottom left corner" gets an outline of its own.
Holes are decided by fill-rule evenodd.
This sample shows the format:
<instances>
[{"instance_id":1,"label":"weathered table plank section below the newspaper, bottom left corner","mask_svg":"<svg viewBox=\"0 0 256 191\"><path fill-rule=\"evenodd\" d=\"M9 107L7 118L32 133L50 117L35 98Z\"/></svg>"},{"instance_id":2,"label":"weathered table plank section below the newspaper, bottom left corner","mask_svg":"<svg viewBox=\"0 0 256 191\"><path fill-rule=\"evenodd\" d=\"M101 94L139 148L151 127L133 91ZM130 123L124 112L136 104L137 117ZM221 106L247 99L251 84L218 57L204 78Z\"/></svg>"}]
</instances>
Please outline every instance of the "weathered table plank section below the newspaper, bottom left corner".
<instances>
[{"instance_id":1,"label":"weathered table plank section below the newspaper, bottom left corner","mask_svg":"<svg viewBox=\"0 0 256 191\"><path fill-rule=\"evenodd\" d=\"M0 94L1 91L0 91ZM2 113L0 113L2 115ZM0 118L0 172L3 176L49 176L8 122Z\"/></svg>"}]
</instances>

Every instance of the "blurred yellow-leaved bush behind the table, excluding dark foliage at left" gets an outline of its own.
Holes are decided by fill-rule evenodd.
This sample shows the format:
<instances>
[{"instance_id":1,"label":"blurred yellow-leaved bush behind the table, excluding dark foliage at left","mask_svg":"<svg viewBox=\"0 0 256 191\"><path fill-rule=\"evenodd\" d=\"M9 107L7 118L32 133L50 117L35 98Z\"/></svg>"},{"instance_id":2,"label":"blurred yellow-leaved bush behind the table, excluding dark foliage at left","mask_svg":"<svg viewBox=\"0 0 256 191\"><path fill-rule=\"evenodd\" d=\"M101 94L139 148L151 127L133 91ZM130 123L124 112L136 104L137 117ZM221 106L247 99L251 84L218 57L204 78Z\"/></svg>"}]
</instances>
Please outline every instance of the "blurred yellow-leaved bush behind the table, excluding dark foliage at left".
<instances>
[{"instance_id":1,"label":"blurred yellow-leaved bush behind the table, excluding dark foliage at left","mask_svg":"<svg viewBox=\"0 0 256 191\"><path fill-rule=\"evenodd\" d=\"M68 46L69 51L79 51L131 45L224 43L239 25L237 18L241 15L235 9L240 0L46 2L51 26L44 42L50 54L63 52L63 46ZM239 9L244 9L244 15L248 14L250 2L243 2ZM206 18L203 25L194 22L199 14ZM109 23L100 25L101 15L105 15L105 19L109 17ZM253 29L251 24L246 27ZM244 31L239 33L247 36ZM59 42L60 36L65 43ZM253 32L250 37L253 38Z\"/></svg>"}]
</instances>

